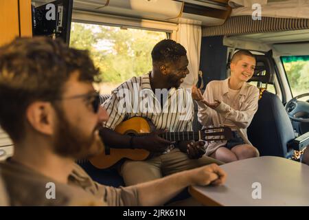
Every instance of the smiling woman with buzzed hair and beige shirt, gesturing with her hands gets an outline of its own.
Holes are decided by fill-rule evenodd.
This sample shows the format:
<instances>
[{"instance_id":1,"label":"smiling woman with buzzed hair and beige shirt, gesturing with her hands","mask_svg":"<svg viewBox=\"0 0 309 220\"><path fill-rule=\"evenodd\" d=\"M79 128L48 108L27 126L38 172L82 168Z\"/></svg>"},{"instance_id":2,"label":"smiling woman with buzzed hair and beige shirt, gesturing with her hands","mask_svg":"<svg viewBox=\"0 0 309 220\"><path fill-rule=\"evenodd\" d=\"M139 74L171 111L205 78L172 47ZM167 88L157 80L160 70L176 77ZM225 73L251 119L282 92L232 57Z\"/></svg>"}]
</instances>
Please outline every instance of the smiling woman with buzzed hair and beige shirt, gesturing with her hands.
<instances>
[{"instance_id":1,"label":"smiling woman with buzzed hair and beige shirt, gesturing with her hands","mask_svg":"<svg viewBox=\"0 0 309 220\"><path fill-rule=\"evenodd\" d=\"M225 125L233 130L231 140L207 146L206 155L222 162L258 157L258 150L247 137L247 127L258 110L259 89L247 83L253 76L255 56L239 50L231 58L231 77L208 83L205 93L193 87L192 96L198 101L198 121L203 126Z\"/></svg>"}]
</instances>

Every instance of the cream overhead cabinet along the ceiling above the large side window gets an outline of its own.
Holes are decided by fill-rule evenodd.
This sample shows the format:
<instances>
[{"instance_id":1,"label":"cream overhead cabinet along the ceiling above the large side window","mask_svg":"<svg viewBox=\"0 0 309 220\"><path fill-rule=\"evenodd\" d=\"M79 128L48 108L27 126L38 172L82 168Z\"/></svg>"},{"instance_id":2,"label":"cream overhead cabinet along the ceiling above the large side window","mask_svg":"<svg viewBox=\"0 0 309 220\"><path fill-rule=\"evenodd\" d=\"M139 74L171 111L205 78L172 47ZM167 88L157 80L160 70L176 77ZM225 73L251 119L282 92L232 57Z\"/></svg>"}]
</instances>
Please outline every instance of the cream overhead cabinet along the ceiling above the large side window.
<instances>
[{"instance_id":1,"label":"cream overhead cabinet along the ceiling above the large side window","mask_svg":"<svg viewBox=\"0 0 309 220\"><path fill-rule=\"evenodd\" d=\"M32 0L36 6L52 0ZM172 23L221 25L228 0L73 0L73 9ZM192 20L192 21L189 21Z\"/></svg>"}]
</instances>

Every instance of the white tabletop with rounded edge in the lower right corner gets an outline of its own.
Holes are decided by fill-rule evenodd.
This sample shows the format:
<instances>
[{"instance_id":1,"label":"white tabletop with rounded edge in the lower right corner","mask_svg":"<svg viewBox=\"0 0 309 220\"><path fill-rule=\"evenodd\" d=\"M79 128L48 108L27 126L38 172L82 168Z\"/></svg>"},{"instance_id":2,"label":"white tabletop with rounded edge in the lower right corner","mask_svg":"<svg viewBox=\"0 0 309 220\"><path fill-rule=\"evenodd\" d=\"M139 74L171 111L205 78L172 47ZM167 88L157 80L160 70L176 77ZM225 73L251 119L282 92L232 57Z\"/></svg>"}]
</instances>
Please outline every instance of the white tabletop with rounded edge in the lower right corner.
<instances>
[{"instance_id":1,"label":"white tabletop with rounded edge in the lower right corner","mask_svg":"<svg viewBox=\"0 0 309 220\"><path fill-rule=\"evenodd\" d=\"M255 157L221 167L222 186L191 186L192 197L206 206L309 206L309 166L282 157ZM261 199L257 197L258 182ZM255 193L252 193L255 190ZM252 195L253 194L253 195Z\"/></svg>"}]
</instances>

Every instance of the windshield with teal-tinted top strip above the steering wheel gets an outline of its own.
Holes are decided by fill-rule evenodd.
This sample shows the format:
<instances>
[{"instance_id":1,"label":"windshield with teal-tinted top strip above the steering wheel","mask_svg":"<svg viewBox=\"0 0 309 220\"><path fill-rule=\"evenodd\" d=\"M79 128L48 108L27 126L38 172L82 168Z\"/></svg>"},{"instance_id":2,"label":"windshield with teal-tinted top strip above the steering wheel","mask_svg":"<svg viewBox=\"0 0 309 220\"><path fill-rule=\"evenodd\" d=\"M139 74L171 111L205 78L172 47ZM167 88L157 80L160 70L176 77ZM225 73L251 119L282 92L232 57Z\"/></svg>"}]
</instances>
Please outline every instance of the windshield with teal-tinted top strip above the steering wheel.
<instances>
[{"instance_id":1,"label":"windshield with teal-tinted top strip above the steering wheel","mask_svg":"<svg viewBox=\"0 0 309 220\"><path fill-rule=\"evenodd\" d=\"M309 91L309 55L282 56L286 77L293 97Z\"/></svg>"}]
</instances>

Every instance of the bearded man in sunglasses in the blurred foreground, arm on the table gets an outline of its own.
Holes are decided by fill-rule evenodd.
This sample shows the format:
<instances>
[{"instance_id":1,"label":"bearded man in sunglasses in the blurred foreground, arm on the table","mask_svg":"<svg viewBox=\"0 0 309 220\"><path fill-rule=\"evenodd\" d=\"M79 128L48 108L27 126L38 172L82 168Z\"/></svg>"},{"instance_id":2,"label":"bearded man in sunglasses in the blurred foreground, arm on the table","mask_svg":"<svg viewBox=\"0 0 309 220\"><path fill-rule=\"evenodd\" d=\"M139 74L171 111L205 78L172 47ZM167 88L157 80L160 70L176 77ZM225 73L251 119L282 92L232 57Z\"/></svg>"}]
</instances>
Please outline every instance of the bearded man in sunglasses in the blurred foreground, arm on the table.
<instances>
[{"instance_id":1,"label":"bearded man in sunglasses in the blurred foreground, arm on the table","mask_svg":"<svg viewBox=\"0 0 309 220\"><path fill-rule=\"evenodd\" d=\"M225 181L216 164L125 188L93 181L75 161L102 152L98 73L87 52L49 38L0 48L0 125L14 142L0 164L10 205L157 206L192 184Z\"/></svg>"}]
</instances>

